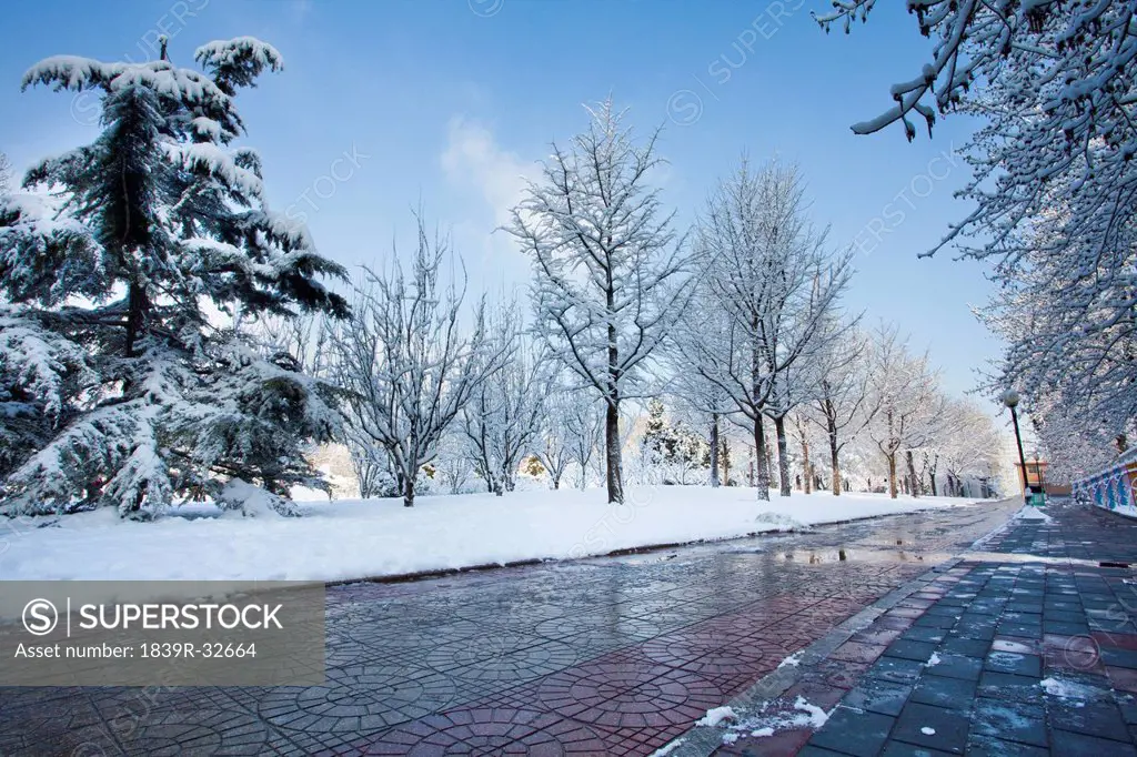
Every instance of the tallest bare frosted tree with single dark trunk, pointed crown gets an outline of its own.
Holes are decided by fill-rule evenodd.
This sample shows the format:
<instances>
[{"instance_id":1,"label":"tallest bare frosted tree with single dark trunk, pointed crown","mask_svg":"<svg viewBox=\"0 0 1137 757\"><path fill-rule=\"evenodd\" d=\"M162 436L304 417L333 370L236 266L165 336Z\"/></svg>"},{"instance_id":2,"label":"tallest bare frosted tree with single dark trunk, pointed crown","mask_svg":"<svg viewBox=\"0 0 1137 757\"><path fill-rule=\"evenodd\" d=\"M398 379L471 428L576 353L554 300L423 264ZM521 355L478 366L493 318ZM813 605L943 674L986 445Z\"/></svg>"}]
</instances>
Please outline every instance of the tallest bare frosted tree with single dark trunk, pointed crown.
<instances>
[{"instance_id":1,"label":"tallest bare frosted tree with single dark trunk, pointed crown","mask_svg":"<svg viewBox=\"0 0 1137 757\"><path fill-rule=\"evenodd\" d=\"M533 259L536 330L605 402L608 501L622 502L620 404L682 314L683 240L649 184L657 132L637 144L611 100L588 131L553 145L508 231Z\"/></svg>"}]
</instances>

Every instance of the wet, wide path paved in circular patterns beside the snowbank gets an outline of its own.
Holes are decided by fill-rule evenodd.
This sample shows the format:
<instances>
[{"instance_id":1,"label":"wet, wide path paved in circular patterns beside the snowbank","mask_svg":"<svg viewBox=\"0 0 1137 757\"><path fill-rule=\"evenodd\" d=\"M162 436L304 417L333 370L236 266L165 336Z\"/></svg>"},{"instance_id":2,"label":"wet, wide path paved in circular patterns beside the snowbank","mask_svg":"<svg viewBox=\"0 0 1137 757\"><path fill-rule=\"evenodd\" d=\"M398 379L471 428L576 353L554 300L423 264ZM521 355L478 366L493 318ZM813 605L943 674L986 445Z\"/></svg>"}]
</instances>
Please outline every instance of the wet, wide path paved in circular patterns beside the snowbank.
<instances>
[{"instance_id":1,"label":"wet, wide path paved in circular patterns beside the snowbank","mask_svg":"<svg viewBox=\"0 0 1137 757\"><path fill-rule=\"evenodd\" d=\"M0 690L0 754L647 755L1011 509L335 587L326 685Z\"/></svg>"}]
</instances>

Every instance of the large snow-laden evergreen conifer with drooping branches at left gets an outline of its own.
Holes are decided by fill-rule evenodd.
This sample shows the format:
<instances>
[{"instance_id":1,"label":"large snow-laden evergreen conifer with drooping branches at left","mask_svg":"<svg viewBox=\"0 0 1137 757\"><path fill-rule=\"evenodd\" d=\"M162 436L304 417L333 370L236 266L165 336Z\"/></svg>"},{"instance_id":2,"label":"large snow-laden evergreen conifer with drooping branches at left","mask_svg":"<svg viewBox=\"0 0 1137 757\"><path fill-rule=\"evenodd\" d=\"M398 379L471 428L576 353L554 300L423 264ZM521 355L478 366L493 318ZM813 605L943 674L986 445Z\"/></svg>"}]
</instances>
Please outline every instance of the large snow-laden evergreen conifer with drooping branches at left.
<instances>
[{"instance_id":1,"label":"large snow-laden evergreen conifer with drooping branches at left","mask_svg":"<svg viewBox=\"0 0 1137 757\"><path fill-rule=\"evenodd\" d=\"M207 496L290 511L290 485L322 484L302 449L334 429L327 388L207 316L347 311L318 281L342 268L268 210L259 158L233 145L233 95L281 57L239 38L196 58L202 70L61 56L24 76L100 92L102 130L0 207L0 376L45 434L0 482L7 514L149 517Z\"/></svg>"}]
</instances>

